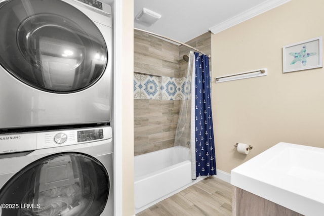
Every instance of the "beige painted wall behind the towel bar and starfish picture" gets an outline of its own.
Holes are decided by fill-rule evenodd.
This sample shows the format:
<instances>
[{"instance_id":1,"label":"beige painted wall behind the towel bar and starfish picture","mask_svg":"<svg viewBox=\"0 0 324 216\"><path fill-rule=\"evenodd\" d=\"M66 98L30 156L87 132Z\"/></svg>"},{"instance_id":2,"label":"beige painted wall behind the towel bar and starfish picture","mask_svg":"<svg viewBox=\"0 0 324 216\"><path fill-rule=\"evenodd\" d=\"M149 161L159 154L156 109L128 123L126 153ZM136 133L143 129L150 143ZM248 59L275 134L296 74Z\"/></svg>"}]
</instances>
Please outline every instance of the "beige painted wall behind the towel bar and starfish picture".
<instances>
[{"instance_id":1,"label":"beige painted wall behind the towel bar and starfish picture","mask_svg":"<svg viewBox=\"0 0 324 216\"><path fill-rule=\"evenodd\" d=\"M217 168L230 172L278 142L324 147L324 71L282 73L282 47L324 35L324 2L294 0L212 35L213 77L268 68L257 78L213 83ZM238 154L237 142L253 146Z\"/></svg>"}]
</instances>

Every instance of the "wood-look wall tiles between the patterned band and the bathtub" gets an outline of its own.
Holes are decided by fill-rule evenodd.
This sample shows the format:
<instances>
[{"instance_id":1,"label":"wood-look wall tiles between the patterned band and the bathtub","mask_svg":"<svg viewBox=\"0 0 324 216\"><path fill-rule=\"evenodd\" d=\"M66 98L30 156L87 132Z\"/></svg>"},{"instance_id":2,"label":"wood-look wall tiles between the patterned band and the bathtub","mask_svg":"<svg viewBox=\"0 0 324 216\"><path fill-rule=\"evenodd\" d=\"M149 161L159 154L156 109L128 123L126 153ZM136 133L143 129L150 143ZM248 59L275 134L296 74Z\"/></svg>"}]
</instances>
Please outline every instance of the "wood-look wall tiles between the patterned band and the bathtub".
<instances>
[{"instance_id":1,"label":"wood-look wall tiles between the patterned band and the bathtub","mask_svg":"<svg viewBox=\"0 0 324 216\"><path fill-rule=\"evenodd\" d=\"M134 154L174 146L179 101L134 99Z\"/></svg>"}]
</instances>

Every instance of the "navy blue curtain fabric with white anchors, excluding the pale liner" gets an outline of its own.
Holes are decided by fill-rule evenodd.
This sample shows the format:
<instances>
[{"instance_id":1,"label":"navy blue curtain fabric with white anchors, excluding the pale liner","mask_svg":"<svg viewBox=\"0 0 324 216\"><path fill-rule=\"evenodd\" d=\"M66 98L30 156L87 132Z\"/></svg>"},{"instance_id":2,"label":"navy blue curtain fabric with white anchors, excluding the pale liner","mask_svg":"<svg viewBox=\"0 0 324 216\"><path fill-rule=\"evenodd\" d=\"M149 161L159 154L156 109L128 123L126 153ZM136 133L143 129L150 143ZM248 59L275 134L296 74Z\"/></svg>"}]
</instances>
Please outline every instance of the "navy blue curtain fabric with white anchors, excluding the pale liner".
<instances>
[{"instance_id":1,"label":"navy blue curtain fabric with white anchors, excluding the pale liner","mask_svg":"<svg viewBox=\"0 0 324 216\"><path fill-rule=\"evenodd\" d=\"M209 58L195 55L196 176L216 175Z\"/></svg>"}]
</instances>

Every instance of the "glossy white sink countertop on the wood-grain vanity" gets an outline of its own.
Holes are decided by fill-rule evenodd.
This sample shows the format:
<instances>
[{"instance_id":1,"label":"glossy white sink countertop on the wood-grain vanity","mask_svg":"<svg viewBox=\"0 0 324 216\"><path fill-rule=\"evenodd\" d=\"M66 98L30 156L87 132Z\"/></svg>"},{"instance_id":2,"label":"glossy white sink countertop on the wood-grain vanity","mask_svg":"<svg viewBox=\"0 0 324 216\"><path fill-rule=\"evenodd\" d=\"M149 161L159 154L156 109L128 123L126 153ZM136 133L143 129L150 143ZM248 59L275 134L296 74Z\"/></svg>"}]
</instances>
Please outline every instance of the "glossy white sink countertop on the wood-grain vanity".
<instances>
[{"instance_id":1,"label":"glossy white sink countertop on the wood-grain vanity","mask_svg":"<svg viewBox=\"0 0 324 216\"><path fill-rule=\"evenodd\" d=\"M278 143L231 171L231 184L303 215L324 215L324 149Z\"/></svg>"}]
</instances>

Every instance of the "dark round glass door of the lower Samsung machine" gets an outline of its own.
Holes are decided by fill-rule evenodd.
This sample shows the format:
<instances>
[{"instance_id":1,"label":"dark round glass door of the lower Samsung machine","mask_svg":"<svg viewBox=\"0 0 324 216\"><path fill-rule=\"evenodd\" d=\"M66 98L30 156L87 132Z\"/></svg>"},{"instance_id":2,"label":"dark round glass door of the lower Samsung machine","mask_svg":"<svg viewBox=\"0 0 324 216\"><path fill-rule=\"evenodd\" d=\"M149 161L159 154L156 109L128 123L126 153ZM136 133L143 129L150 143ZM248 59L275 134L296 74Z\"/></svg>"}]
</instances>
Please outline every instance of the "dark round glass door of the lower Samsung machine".
<instances>
[{"instance_id":1,"label":"dark round glass door of the lower Samsung machine","mask_svg":"<svg viewBox=\"0 0 324 216\"><path fill-rule=\"evenodd\" d=\"M61 153L17 172L0 190L0 216L98 216L106 206L110 181L95 158Z\"/></svg>"}]
</instances>

